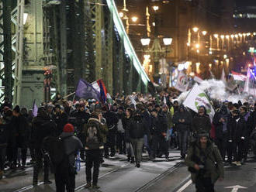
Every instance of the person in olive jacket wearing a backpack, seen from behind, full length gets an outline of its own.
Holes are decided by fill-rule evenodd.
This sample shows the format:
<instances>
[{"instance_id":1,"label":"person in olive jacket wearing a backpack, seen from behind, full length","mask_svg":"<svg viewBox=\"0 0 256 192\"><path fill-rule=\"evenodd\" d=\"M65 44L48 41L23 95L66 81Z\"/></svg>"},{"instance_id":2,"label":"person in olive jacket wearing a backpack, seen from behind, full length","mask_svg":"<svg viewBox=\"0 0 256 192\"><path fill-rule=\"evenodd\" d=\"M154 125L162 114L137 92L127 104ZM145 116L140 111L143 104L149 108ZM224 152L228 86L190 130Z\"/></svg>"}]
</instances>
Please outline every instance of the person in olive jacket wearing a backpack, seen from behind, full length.
<instances>
[{"instance_id":1,"label":"person in olive jacket wearing a backpack, seen from behind, full length","mask_svg":"<svg viewBox=\"0 0 256 192\"><path fill-rule=\"evenodd\" d=\"M85 188L91 187L99 189L99 165L102 159L101 149L104 148L104 135L108 132L107 128L102 125L102 115L100 112L93 112L88 123L85 125L85 165L86 181ZM93 177L92 177L93 166ZM92 183L91 183L92 182Z\"/></svg>"}]
</instances>

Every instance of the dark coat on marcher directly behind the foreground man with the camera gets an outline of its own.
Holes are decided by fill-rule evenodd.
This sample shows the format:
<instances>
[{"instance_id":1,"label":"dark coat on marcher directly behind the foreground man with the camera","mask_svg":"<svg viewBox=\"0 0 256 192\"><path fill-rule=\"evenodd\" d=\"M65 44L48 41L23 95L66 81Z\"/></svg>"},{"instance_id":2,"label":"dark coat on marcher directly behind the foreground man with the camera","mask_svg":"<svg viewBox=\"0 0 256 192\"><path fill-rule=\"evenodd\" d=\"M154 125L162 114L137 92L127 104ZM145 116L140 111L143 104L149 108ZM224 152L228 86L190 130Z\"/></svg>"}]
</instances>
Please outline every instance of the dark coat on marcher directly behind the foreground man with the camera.
<instances>
[{"instance_id":1,"label":"dark coat on marcher directly behind the foreground man with the camera","mask_svg":"<svg viewBox=\"0 0 256 192\"><path fill-rule=\"evenodd\" d=\"M192 121L192 131L200 132L202 130L210 132L212 128L209 116L207 115L195 115Z\"/></svg>"}]
</instances>

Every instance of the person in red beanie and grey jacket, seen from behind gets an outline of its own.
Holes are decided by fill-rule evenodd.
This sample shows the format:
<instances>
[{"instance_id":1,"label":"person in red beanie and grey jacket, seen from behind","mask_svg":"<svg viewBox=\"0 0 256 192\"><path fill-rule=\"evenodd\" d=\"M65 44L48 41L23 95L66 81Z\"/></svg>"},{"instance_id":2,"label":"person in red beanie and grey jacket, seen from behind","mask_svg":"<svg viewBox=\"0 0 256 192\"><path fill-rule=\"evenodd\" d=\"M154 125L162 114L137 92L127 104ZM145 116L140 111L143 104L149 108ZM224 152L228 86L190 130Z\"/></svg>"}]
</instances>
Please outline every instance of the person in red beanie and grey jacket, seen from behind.
<instances>
[{"instance_id":1,"label":"person in red beanie and grey jacket, seen from behind","mask_svg":"<svg viewBox=\"0 0 256 192\"><path fill-rule=\"evenodd\" d=\"M75 156L78 150L83 147L81 141L74 136L74 126L67 123L64 125L63 132L60 135L64 141L65 157L63 161L56 167L55 184L57 192L74 191L75 187Z\"/></svg>"}]
</instances>

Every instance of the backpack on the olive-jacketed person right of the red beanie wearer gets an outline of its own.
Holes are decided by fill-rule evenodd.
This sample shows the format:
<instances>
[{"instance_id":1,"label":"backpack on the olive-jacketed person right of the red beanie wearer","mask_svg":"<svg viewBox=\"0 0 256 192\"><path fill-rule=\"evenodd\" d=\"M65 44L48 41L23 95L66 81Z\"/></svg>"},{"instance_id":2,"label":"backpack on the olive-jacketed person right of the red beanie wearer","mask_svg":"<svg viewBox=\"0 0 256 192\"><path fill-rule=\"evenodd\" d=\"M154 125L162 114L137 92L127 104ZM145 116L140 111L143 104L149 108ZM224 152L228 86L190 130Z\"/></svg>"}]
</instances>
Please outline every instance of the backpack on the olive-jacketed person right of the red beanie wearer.
<instances>
[{"instance_id":1,"label":"backpack on the olive-jacketed person right of the red beanie wearer","mask_svg":"<svg viewBox=\"0 0 256 192\"><path fill-rule=\"evenodd\" d=\"M99 124L95 122L88 122L86 129L86 146L88 149L99 149L102 145L102 137L99 132Z\"/></svg>"}]
</instances>

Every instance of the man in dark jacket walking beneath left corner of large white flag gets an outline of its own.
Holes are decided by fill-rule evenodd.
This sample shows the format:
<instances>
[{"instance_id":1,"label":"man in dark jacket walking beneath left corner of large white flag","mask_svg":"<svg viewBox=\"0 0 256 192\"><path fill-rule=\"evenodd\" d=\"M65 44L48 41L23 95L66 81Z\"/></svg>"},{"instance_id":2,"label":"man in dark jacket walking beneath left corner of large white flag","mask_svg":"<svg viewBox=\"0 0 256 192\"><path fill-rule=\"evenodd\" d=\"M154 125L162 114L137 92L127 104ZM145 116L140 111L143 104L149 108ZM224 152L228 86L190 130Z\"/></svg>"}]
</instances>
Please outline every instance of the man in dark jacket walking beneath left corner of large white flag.
<instances>
[{"instance_id":1,"label":"man in dark jacket walking beneath left corner of large white flag","mask_svg":"<svg viewBox=\"0 0 256 192\"><path fill-rule=\"evenodd\" d=\"M189 130L192 125L192 115L189 111L186 111L184 105L181 105L179 110L175 112L175 115L173 115L172 121L175 124L175 129L178 131L178 140L182 159L185 159Z\"/></svg>"}]
</instances>

